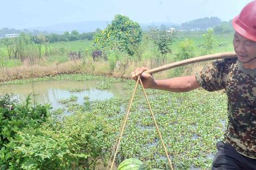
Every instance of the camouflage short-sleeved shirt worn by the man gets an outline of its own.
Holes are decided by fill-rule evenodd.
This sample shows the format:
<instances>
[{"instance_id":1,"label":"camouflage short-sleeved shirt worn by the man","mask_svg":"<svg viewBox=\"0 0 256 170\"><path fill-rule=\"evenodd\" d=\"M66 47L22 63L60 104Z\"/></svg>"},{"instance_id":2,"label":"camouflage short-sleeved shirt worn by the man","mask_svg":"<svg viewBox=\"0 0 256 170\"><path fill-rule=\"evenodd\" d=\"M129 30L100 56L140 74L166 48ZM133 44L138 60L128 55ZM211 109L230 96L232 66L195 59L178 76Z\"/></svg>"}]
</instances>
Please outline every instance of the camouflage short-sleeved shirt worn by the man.
<instances>
[{"instance_id":1,"label":"camouflage short-sleeved shirt worn by the man","mask_svg":"<svg viewBox=\"0 0 256 170\"><path fill-rule=\"evenodd\" d=\"M195 76L207 91L225 89L228 128L224 142L256 159L256 69L246 69L237 59L222 59Z\"/></svg>"}]
</instances>

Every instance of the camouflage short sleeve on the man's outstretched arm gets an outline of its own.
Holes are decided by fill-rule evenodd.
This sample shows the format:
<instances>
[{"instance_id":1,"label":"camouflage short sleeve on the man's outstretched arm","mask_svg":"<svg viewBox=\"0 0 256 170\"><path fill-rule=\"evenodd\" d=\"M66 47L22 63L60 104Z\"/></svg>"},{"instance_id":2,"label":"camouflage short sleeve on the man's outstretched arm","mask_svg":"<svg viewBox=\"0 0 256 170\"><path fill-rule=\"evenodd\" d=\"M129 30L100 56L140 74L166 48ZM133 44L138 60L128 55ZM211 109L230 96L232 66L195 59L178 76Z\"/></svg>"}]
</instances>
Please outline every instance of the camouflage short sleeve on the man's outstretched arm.
<instances>
[{"instance_id":1,"label":"camouflage short sleeve on the man's outstretched arm","mask_svg":"<svg viewBox=\"0 0 256 170\"><path fill-rule=\"evenodd\" d=\"M212 62L208 67L205 67L200 73L196 73L197 82L207 91L216 91L225 88L224 70L226 63L224 60Z\"/></svg>"}]
</instances>

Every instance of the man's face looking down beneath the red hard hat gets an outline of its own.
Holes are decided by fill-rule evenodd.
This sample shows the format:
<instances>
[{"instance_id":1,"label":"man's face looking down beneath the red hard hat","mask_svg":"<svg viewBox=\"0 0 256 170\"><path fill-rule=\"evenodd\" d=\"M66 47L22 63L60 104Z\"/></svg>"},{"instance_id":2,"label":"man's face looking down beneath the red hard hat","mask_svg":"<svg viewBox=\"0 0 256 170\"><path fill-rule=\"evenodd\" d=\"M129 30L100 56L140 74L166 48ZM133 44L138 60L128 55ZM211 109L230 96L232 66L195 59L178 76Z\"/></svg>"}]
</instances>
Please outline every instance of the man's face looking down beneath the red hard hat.
<instances>
[{"instance_id":1,"label":"man's face looking down beneath the red hard hat","mask_svg":"<svg viewBox=\"0 0 256 170\"><path fill-rule=\"evenodd\" d=\"M234 33L234 50L240 62L246 65L256 64L256 42L246 39L239 33Z\"/></svg>"}]
</instances>

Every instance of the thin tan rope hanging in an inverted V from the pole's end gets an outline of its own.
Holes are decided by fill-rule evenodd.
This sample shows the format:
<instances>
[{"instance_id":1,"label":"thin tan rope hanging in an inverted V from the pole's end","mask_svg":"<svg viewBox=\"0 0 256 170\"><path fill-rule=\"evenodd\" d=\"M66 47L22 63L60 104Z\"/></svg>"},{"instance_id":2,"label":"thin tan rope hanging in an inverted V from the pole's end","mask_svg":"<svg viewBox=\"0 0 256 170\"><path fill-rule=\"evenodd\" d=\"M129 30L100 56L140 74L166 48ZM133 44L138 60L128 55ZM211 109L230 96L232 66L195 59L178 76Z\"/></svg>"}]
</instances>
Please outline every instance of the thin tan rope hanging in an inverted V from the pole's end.
<instances>
[{"instance_id":1,"label":"thin tan rope hanging in an inverted V from the pole's end","mask_svg":"<svg viewBox=\"0 0 256 170\"><path fill-rule=\"evenodd\" d=\"M111 167L110 167L110 170L113 169L115 157L117 156L118 148L119 148L119 145L120 145L122 136L123 136L123 131L125 130L125 125L127 124L127 119L128 119L129 113L130 113L131 104L133 103L134 96L135 96L135 92L137 91L137 87L138 87L138 84L139 84L139 83L141 83L141 86L142 86L142 89L143 89L143 93L144 93L144 96L145 96L145 98L146 98L146 100L147 100L148 108L150 109L150 113L151 113L151 116L152 116L152 118L153 118L153 120L154 120L154 124L155 124L156 130L157 130L157 132L158 132L160 141L161 141L162 146L163 146L163 148L164 148L164 152L165 152L165 154L166 154L166 157L167 157L167 160L168 160L168 164L170 165L171 170L174 170L174 168L172 167L171 159L170 159L169 156L168 156L168 152L167 152L166 146L164 145L162 135L161 135L160 130L159 130L159 128L158 128L158 124L156 123L154 113L152 112L150 103L149 103L149 101L148 101L148 97L147 97L146 91L145 91L145 89L144 89L144 87L143 87L143 83L142 83L142 80L141 80L141 77L140 77L140 76L138 76L138 79L137 79L137 82L136 82L136 85L135 85L135 88L134 88L133 96L131 97L131 100L130 100L130 103L129 103L129 107L128 107L127 112L126 112L126 116L125 116L125 118L124 118L123 121L122 121L122 128L121 128L121 131L120 131L119 136L118 136L119 139L117 138L118 141L116 141L116 142L115 142L115 145L113 146L113 151L112 151L112 154L111 154L111 156L110 156L109 164L108 164L108 167L106 168L106 170L108 170L108 168L109 168L109 166L110 166L110 162L111 162L112 157L113 157L113 155L114 155L113 160L112 160L112 164L111 164ZM115 148L115 152L114 152L114 148Z\"/></svg>"}]
</instances>

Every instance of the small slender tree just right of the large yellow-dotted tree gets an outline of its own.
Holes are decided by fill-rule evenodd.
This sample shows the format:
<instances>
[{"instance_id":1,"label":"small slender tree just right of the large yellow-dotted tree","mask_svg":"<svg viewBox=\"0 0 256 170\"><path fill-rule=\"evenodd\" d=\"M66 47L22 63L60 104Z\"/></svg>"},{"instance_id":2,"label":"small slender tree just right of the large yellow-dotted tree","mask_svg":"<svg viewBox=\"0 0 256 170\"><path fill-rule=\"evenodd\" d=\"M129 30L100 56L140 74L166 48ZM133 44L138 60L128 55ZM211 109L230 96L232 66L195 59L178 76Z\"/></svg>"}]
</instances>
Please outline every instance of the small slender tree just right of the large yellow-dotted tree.
<instances>
[{"instance_id":1,"label":"small slender tree just right of the large yellow-dotted tree","mask_svg":"<svg viewBox=\"0 0 256 170\"><path fill-rule=\"evenodd\" d=\"M150 27L150 38L153 40L154 44L158 46L163 65L166 54L172 53L170 45L172 45L174 37L174 32L168 32L166 30L159 30L156 27Z\"/></svg>"}]
</instances>

